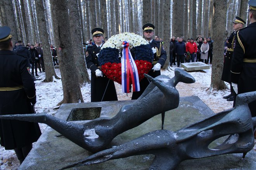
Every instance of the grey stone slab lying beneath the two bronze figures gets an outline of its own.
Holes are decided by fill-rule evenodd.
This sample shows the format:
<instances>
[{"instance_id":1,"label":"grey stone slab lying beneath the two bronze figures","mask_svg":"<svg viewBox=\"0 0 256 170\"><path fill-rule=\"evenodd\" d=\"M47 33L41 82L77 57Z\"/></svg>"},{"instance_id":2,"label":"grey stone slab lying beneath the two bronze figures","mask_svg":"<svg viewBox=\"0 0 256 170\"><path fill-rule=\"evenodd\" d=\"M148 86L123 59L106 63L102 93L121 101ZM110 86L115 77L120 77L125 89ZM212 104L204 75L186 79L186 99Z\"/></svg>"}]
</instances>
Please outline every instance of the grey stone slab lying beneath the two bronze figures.
<instances>
[{"instance_id":1,"label":"grey stone slab lying beneath the two bronze figures","mask_svg":"<svg viewBox=\"0 0 256 170\"><path fill-rule=\"evenodd\" d=\"M56 117L67 120L75 115L69 116L74 110L93 109L93 112L100 112L101 117L113 117L119 109L125 104L131 104L132 100L116 102L93 102L80 104L62 104L56 113ZM97 109L95 109L97 108ZM164 129L176 131L187 125L198 122L206 117L214 115L198 97L180 97L179 107L166 112ZM73 118L72 118L73 119ZM84 118L83 118L84 119ZM76 121L76 123L85 123L86 121ZM135 139L150 131L161 129L161 114L140 126L130 129L123 134L118 135L111 143L111 146L121 145L132 139ZM21 170L54 170L72 164L82 158L86 158L92 153L84 150L64 137L59 135L49 126L45 129L42 136L38 139L35 146L26 157ZM215 141L216 143L218 141ZM154 159L154 155L139 155L110 160L96 165L88 165L75 170L145 170L148 169ZM228 154L197 160L186 160L180 163L177 170L254 170L256 169L256 152L254 150L247 153L246 158L242 159L242 154Z\"/></svg>"}]
</instances>

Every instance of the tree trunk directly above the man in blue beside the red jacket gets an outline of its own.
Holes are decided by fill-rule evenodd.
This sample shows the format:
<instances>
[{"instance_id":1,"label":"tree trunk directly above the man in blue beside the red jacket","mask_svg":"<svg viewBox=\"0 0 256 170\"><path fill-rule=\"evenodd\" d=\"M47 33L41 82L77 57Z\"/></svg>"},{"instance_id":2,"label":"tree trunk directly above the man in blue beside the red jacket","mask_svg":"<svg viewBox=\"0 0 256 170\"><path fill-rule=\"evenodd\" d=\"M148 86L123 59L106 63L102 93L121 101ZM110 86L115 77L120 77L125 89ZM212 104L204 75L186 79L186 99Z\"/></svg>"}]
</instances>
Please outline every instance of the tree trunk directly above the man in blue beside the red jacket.
<instances>
[{"instance_id":1,"label":"tree trunk directly above the man in blue beside the red jacket","mask_svg":"<svg viewBox=\"0 0 256 170\"><path fill-rule=\"evenodd\" d=\"M183 33L183 11L184 11L183 0L173 0L173 36L180 37Z\"/></svg>"}]
</instances>

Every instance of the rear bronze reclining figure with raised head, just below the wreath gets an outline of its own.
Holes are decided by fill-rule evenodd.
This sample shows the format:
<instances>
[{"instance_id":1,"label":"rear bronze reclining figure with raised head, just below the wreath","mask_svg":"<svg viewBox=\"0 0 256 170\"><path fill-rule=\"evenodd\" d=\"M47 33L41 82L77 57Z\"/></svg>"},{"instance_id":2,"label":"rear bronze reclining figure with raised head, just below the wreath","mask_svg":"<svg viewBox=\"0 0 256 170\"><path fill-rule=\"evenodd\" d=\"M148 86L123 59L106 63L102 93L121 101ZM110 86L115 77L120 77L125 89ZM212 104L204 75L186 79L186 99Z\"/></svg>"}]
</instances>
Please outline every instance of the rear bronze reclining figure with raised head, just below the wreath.
<instances>
[{"instance_id":1,"label":"rear bronze reclining figure with raised head, just below the wreath","mask_svg":"<svg viewBox=\"0 0 256 170\"><path fill-rule=\"evenodd\" d=\"M157 114L177 108L180 101L175 88L177 83L195 82L193 76L181 69L175 69L173 78L165 75L156 78L145 76L152 81L146 90L135 102L124 105L112 118L99 117L82 125L49 114L4 115L0 119L45 123L82 148L97 152L106 149L118 134L139 126Z\"/></svg>"}]
</instances>

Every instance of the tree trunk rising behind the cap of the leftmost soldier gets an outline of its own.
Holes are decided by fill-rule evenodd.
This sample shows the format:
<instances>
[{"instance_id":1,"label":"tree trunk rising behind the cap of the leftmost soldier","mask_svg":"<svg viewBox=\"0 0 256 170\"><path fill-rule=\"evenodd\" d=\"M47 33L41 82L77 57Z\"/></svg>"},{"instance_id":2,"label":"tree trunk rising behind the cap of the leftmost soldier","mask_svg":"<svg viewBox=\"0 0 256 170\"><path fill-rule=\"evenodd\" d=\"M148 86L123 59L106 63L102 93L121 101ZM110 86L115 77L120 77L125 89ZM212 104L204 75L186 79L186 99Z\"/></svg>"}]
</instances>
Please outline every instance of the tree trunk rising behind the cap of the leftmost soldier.
<instances>
[{"instance_id":1,"label":"tree trunk rising behind the cap of the leftmost soldier","mask_svg":"<svg viewBox=\"0 0 256 170\"><path fill-rule=\"evenodd\" d=\"M13 45L15 45L15 42L18 41L19 37L18 37L17 26L15 22L12 0L3 0L3 4L5 7L7 26L9 26L11 29L10 34L12 35L12 41L14 42Z\"/></svg>"}]
</instances>

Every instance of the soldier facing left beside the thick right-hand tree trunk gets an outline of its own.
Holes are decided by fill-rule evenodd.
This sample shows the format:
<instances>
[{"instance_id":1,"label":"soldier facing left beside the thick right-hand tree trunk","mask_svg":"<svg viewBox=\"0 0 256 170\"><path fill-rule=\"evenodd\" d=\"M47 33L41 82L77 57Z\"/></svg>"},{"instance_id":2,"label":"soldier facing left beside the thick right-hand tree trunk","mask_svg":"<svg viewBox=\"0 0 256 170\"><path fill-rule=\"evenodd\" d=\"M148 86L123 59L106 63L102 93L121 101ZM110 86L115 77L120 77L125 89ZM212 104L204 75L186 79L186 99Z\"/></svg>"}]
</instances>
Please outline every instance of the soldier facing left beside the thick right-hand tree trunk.
<instances>
[{"instance_id":1,"label":"soldier facing left beside the thick right-hand tree trunk","mask_svg":"<svg viewBox=\"0 0 256 170\"><path fill-rule=\"evenodd\" d=\"M235 40L235 34L237 33L238 30L242 29L246 22L241 19L240 17L235 17L235 20L233 22L233 29L234 32L232 32L228 38L228 43L227 43L227 53L224 56L224 65L223 65L223 71L222 71L222 76L221 80L230 83L230 94L227 96L224 96L223 99L227 99L227 101L234 101L236 97L236 93L233 90L232 84L231 84L231 61L232 61L232 56L233 56L233 51L234 51L234 40Z\"/></svg>"}]
</instances>

